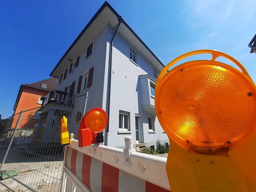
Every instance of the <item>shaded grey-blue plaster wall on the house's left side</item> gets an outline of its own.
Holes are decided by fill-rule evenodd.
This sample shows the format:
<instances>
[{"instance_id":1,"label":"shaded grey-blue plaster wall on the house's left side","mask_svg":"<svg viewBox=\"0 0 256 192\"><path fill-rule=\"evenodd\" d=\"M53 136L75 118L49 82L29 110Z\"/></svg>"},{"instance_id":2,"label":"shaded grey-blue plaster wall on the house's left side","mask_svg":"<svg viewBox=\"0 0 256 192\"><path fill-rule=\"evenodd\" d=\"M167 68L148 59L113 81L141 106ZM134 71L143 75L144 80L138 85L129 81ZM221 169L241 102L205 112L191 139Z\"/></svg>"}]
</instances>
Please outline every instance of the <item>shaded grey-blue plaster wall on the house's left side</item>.
<instances>
[{"instance_id":1,"label":"shaded grey-blue plaster wall on the house's left side","mask_svg":"<svg viewBox=\"0 0 256 192\"><path fill-rule=\"evenodd\" d=\"M86 42L84 42L84 49L75 57L72 58L75 60L78 56L80 56L78 67L74 70L73 73L68 73L66 76L66 79L63 80L60 84L57 85L57 90L65 90L66 86L69 86L72 84L73 81L76 81L75 88L74 88L74 95L79 96L81 94L86 94L88 91L89 99L87 102L86 111L89 109L92 109L94 107L100 107L105 110L105 106L102 106L103 98L104 98L104 78L105 78L105 62L106 62L106 41L107 41L107 29L108 26L106 25L96 36L92 39L88 39ZM94 47L93 47L93 54L85 60L86 55L86 48L90 43L94 40ZM71 64L71 63L70 63ZM86 90L77 93L77 87L79 82L79 77L84 74L86 71L88 71L90 68L94 67L93 71L93 77L92 77L92 86L87 88ZM69 71L69 68L68 68ZM78 99L77 99L78 100ZM82 100L84 105L85 100ZM78 103L78 102L76 102ZM81 105L78 103L78 105ZM75 106L74 109L76 110L78 106ZM76 114L74 113L74 116ZM72 118L72 121L74 121L74 117ZM74 126L75 127L75 126ZM77 130L79 126L77 126L76 130L74 130L74 134L77 135Z\"/></svg>"}]
</instances>

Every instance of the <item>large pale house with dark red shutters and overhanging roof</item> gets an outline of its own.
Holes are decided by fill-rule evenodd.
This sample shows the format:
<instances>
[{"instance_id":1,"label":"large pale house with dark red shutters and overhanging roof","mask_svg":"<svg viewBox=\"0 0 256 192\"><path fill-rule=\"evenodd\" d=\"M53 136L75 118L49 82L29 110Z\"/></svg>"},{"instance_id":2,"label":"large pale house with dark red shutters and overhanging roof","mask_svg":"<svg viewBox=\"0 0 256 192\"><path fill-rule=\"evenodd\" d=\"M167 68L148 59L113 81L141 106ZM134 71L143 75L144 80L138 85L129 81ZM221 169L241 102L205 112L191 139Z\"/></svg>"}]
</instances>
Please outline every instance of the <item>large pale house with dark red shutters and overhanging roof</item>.
<instances>
[{"instance_id":1,"label":"large pale house with dark red shutters and overhanging roof","mask_svg":"<svg viewBox=\"0 0 256 192\"><path fill-rule=\"evenodd\" d=\"M122 20L105 2L50 76L59 79L57 90L76 96L88 92L86 110L94 107L106 110L109 128L104 130L105 145L124 148L124 137L132 136L137 147L146 144L154 148L158 139L168 142L154 108L156 78L164 65L125 21L114 36L111 49L118 18ZM61 95L59 99L63 100ZM77 131L74 134L77 135Z\"/></svg>"}]
</instances>

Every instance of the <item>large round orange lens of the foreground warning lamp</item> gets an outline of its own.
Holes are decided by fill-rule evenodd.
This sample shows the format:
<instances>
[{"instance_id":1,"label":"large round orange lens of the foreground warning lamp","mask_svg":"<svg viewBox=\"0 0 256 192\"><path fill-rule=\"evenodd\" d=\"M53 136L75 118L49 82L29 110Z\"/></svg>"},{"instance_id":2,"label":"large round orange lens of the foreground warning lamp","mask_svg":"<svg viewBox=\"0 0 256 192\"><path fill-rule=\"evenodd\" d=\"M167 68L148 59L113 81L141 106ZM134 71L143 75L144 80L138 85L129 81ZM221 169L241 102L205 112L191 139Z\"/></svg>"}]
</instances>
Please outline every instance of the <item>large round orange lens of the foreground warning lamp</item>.
<instances>
[{"instance_id":1,"label":"large round orange lens of the foreground warning lamp","mask_svg":"<svg viewBox=\"0 0 256 192\"><path fill-rule=\"evenodd\" d=\"M157 83L156 114L171 138L206 148L230 146L256 125L255 85L224 63L187 62Z\"/></svg>"}]
</instances>

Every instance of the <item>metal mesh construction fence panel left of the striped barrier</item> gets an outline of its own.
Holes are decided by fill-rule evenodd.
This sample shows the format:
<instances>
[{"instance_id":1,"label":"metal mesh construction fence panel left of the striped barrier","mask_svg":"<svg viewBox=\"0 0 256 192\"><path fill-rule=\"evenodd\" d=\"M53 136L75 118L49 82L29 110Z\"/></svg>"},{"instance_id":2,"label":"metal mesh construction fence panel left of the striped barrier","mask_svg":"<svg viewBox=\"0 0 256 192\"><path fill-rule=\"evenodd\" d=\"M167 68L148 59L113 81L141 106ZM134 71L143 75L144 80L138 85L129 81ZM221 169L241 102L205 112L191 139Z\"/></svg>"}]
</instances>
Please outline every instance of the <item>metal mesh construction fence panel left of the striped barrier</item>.
<instances>
[{"instance_id":1,"label":"metal mesh construction fence panel left of the striped barrier","mask_svg":"<svg viewBox=\"0 0 256 192\"><path fill-rule=\"evenodd\" d=\"M60 191L64 159L61 119L66 116L68 132L76 134L85 104L86 95L82 95L16 114L3 142L10 148L0 170L16 170L19 174L13 179L20 183L10 187L11 178L1 182L14 191Z\"/></svg>"}]
</instances>

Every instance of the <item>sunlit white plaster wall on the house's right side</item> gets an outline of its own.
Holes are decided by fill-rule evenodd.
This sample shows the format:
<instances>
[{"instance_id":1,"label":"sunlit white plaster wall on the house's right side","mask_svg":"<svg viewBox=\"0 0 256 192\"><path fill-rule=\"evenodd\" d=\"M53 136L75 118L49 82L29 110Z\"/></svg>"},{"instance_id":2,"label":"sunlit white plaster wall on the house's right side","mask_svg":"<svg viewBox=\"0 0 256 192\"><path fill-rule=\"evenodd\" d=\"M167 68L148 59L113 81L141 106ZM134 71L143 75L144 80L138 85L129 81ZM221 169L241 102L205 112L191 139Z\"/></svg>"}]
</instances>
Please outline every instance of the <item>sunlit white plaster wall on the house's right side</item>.
<instances>
[{"instance_id":1,"label":"sunlit white plaster wall on the house's right side","mask_svg":"<svg viewBox=\"0 0 256 192\"><path fill-rule=\"evenodd\" d=\"M112 38L112 27L108 26L108 45ZM107 46L108 47L108 46ZM108 50L109 48L107 48ZM137 54L137 64L130 61L130 49ZM135 50L120 34L116 34L113 43L112 56L112 85L111 85L111 104L110 104L110 129L108 136L108 145L124 147L124 137L132 136L135 144L135 114L142 115L141 124L143 126L140 132L142 141L145 143L156 142L157 139L168 141L168 137L163 133L156 114L145 112L141 105L141 93L144 87L140 87L139 75L150 74L153 76L153 70L156 70L146 60L138 50ZM113 72L114 71L114 72ZM131 133L119 132L119 110L130 112L130 130ZM153 117L156 132L149 133L148 117Z\"/></svg>"}]
</instances>

